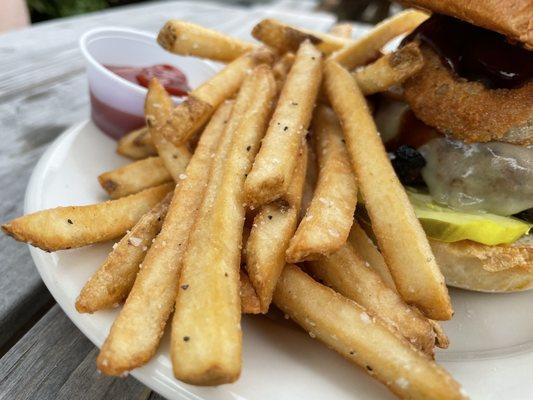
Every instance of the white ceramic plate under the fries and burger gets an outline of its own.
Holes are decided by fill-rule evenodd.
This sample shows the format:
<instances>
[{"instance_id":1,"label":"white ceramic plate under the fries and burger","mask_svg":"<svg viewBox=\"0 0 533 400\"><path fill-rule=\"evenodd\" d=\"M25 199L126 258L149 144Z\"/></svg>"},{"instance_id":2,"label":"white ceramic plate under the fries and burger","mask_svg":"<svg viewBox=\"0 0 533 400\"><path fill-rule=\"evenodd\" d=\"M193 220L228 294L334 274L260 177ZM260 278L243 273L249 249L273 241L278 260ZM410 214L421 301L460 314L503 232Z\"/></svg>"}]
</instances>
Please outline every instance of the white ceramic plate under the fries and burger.
<instances>
[{"instance_id":1,"label":"white ceramic plate under the fries and burger","mask_svg":"<svg viewBox=\"0 0 533 400\"><path fill-rule=\"evenodd\" d=\"M64 132L31 177L25 212L89 204L105 199L98 174L128 162L115 142L91 122ZM101 346L116 310L84 315L74 302L83 284L111 249L31 254L48 289L78 328ZM533 398L533 292L482 294L452 290L455 317L444 324L451 347L438 361L473 399ZM153 360L132 374L169 399L392 399L384 386L281 318L246 316L244 363L239 381L216 388L183 384L172 376L165 336Z\"/></svg>"}]
</instances>

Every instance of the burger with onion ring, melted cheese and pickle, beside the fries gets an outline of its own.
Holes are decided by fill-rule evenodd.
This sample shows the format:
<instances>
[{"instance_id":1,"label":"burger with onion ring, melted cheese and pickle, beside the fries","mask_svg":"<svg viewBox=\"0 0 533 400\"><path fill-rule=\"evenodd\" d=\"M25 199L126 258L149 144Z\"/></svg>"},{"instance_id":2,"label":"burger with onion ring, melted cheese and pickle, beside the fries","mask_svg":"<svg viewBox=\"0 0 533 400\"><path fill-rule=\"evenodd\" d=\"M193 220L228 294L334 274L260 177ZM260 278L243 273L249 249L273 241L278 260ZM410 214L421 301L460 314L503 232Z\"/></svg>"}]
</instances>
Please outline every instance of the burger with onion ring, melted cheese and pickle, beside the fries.
<instances>
[{"instance_id":1,"label":"burger with onion ring, melted cheese and pickle, beside the fries","mask_svg":"<svg viewBox=\"0 0 533 400\"><path fill-rule=\"evenodd\" d=\"M449 285L531 289L533 3L402 4L432 15L400 44L423 68L375 107L391 162Z\"/></svg>"}]
</instances>

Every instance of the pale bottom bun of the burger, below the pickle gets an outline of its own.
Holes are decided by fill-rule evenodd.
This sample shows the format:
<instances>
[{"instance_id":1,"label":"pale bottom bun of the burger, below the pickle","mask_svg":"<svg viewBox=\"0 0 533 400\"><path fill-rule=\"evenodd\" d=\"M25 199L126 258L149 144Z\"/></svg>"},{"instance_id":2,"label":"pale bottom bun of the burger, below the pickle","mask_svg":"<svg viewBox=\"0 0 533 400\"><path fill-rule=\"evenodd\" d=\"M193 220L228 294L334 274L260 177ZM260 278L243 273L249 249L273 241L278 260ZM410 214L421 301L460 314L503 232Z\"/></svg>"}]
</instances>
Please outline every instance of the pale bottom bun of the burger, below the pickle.
<instances>
[{"instance_id":1,"label":"pale bottom bun of the burger, below the pickle","mask_svg":"<svg viewBox=\"0 0 533 400\"><path fill-rule=\"evenodd\" d=\"M429 242L449 286L492 293L533 289L533 241L528 236L510 246Z\"/></svg>"}]
</instances>

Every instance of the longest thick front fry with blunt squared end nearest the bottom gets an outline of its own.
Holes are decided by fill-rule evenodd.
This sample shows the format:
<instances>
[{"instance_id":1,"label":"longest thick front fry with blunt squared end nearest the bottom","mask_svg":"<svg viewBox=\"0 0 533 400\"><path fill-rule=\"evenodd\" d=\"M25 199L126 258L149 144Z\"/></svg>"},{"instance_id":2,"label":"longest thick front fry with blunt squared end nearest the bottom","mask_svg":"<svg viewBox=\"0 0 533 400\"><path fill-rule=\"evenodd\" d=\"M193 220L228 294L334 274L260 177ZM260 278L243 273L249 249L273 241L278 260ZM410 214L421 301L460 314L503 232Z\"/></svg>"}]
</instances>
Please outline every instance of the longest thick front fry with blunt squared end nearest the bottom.
<instances>
[{"instance_id":1,"label":"longest thick front fry with blunt squared end nearest the bottom","mask_svg":"<svg viewBox=\"0 0 533 400\"><path fill-rule=\"evenodd\" d=\"M172 321L172 365L183 382L219 385L240 375L244 178L265 133L275 94L270 67L256 67L243 82L213 161L184 257Z\"/></svg>"}]
</instances>

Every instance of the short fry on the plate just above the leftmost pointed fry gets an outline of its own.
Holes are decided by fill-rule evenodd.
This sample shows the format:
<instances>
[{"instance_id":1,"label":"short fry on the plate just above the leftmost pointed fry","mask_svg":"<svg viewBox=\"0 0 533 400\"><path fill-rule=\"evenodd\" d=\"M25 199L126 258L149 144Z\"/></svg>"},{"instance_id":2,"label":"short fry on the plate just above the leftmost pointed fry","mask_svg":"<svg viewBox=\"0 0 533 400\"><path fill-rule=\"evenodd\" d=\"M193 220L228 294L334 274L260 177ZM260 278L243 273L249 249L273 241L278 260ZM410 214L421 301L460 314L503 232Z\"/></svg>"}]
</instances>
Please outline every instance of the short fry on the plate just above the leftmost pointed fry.
<instances>
[{"instance_id":1,"label":"short fry on the plate just above the leftmost pointed fry","mask_svg":"<svg viewBox=\"0 0 533 400\"><path fill-rule=\"evenodd\" d=\"M187 157L186 162L188 161ZM138 160L98 176L100 186L112 199L118 199L171 181L172 176L159 157Z\"/></svg>"}]
</instances>

